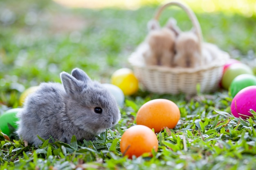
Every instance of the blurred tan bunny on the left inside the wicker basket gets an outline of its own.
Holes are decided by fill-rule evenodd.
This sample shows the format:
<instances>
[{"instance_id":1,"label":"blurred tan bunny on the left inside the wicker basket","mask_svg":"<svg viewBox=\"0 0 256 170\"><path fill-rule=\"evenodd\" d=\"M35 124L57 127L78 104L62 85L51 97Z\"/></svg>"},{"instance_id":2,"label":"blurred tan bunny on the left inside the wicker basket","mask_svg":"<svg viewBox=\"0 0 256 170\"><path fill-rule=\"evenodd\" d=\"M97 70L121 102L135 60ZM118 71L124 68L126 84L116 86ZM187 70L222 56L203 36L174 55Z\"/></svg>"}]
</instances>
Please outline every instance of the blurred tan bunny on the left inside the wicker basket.
<instances>
[{"instance_id":1,"label":"blurred tan bunny on the left inside the wicker basket","mask_svg":"<svg viewBox=\"0 0 256 170\"><path fill-rule=\"evenodd\" d=\"M174 57L175 33L167 27L161 28L157 20L148 22L146 44L148 50L143 54L147 65L172 66Z\"/></svg>"}]
</instances>

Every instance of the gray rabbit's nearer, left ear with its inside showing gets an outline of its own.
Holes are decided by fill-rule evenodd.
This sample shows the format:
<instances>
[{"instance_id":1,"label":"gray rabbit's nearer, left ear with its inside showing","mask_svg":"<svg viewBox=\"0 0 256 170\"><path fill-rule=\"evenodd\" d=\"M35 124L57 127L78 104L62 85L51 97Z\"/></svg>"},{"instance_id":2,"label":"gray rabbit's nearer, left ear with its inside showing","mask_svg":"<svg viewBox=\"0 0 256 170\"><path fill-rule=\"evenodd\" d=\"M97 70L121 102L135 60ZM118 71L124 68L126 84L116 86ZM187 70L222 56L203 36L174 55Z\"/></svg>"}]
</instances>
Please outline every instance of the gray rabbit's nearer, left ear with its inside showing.
<instances>
[{"instance_id":1,"label":"gray rabbit's nearer, left ear with its inside showing","mask_svg":"<svg viewBox=\"0 0 256 170\"><path fill-rule=\"evenodd\" d=\"M75 94L82 90L79 81L66 72L61 73L61 81L67 94Z\"/></svg>"}]
</instances>

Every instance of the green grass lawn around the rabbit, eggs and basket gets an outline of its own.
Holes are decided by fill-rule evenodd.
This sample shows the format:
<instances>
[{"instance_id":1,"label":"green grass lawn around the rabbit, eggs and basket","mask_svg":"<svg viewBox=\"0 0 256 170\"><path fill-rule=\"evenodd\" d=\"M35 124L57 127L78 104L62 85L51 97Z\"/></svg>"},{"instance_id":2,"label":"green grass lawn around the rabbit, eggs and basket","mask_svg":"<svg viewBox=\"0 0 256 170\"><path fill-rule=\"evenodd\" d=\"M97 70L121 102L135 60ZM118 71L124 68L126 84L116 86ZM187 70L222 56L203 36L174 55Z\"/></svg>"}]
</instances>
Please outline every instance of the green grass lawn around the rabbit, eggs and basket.
<instances>
[{"instance_id":1,"label":"green grass lawn around the rabbit, eggs and basket","mask_svg":"<svg viewBox=\"0 0 256 170\"><path fill-rule=\"evenodd\" d=\"M156 8L67 9L51 1L1 1L0 113L20 107L18 99L26 88L40 82L60 82L59 73L70 73L75 67L82 68L93 79L109 83L115 70L131 68L127 58L144 40L146 23ZM5 19L4 14L8 14ZM255 14L249 18L221 11L196 15L205 41L217 44L239 60L255 58ZM36 16L36 20L31 16ZM187 16L177 9L165 11L160 22L163 24L171 16L184 30L190 29ZM66 20L62 21L63 18ZM69 18L78 21L76 27L67 24ZM180 122L171 132L157 134L159 149L153 158L123 157L121 135L136 124L140 106L157 98L171 99L179 106ZM222 89L193 97L158 95L140 89L137 94L126 96L119 124L94 141L77 142L73 138L67 145L58 141L49 144L46 140L34 148L25 146L13 134L11 141L0 135L0 170L256 169L255 118L232 117L231 100Z\"/></svg>"}]
</instances>

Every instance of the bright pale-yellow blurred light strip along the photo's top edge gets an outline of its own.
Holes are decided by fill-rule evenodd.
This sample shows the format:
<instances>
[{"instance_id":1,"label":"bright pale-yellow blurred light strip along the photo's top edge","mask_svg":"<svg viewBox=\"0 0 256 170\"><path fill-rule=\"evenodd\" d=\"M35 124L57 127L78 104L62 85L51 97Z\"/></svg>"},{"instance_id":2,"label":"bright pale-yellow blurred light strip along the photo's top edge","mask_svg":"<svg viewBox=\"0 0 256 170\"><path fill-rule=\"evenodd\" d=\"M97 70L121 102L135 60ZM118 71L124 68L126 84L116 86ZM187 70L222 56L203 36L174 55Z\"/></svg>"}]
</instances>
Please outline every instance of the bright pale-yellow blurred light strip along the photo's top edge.
<instances>
[{"instance_id":1,"label":"bright pale-yellow blurred light strip along the photo's top edge","mask_svg":"<svg viewBox=\"0 0 256 170\"><path fill-rule=\"evenodd\" d=\"M123 9L137 9L146 4L161 4L168 1L162 0L54 0L67 7L101 9L116 7ZM184 0L194 11L197 12L218 12L239 13L246 17L256 14L255 0Z\"/></svg>"}]
</instances>

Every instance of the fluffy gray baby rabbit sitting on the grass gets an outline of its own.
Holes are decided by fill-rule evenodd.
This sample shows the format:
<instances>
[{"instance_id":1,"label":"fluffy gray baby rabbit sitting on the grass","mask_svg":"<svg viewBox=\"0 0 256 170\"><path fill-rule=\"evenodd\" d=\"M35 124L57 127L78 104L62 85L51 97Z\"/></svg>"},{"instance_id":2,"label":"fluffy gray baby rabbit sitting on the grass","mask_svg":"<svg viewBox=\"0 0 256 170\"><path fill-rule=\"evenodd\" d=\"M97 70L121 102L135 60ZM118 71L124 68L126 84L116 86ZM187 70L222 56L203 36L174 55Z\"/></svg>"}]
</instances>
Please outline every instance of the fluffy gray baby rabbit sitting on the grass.
<instances>
[{"instance_id":1,"label":"fluffy gray baby rabbit sitting on the grass","mask_svg":"<svg viewBox=\"0 0 256 170\"><path fill-rule=\"evenodd\" d=\"M41 83L25 100L18 113L17 133L21 139L38 146L43 139L70 143L92 140L95 135L115 126L121 115L115 98L99 82L92 81L79 68L71 75L60 74L62 84Z\"/></svg>"}]
</instances>

